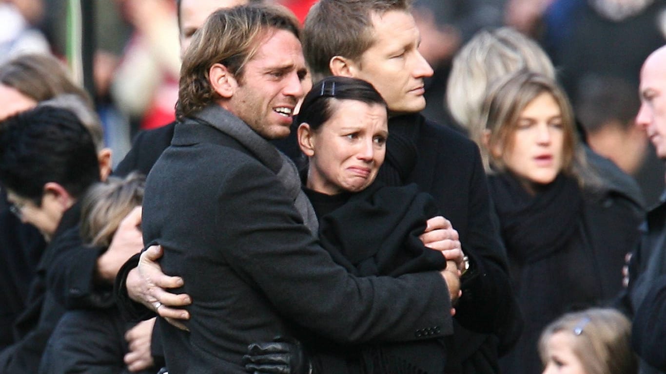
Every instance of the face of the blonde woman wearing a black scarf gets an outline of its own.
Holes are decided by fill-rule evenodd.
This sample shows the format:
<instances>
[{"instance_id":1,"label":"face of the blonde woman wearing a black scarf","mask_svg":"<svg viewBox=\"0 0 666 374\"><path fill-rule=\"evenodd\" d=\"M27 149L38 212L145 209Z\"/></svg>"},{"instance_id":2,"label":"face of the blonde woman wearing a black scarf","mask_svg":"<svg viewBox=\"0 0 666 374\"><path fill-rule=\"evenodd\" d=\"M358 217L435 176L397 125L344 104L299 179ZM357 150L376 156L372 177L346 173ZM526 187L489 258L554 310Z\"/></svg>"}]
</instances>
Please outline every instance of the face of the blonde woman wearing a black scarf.
<instances>
[{"instance_id":1,"label":"face of the blonde woman wearing a black scarf","mask_svg":"<svg viewBox=\"0 0 666 374\"><path fill-rule=\"evenodd\" d=\"M493 156L525 182L548 184L563 168L565 128L561 109L549 93L531 100L512 125L506 146L492 147Z\"/></svg>"}]
</instances>

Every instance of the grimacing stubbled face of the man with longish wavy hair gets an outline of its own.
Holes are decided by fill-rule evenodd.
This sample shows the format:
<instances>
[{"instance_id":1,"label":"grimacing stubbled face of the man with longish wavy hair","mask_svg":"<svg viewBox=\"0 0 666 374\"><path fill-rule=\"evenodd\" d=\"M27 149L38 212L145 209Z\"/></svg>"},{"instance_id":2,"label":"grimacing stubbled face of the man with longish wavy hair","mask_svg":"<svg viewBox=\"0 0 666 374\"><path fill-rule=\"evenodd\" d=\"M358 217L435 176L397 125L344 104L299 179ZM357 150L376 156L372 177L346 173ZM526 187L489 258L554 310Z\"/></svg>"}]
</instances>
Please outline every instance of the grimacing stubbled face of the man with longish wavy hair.
<instances>
[{"instance_id":1,"label":"grimacing stubbled face of the man with longish wavy hair","mask_svg":"<svg viewBox=\"0 0 666 374\"><path fill-rule=\"evenodd\" d=\"M225 108L262 137L284 138L304 88L310 87L305 59L300 41L289 31L270 31L261 43Z\"/></svg>"}]
</instances>

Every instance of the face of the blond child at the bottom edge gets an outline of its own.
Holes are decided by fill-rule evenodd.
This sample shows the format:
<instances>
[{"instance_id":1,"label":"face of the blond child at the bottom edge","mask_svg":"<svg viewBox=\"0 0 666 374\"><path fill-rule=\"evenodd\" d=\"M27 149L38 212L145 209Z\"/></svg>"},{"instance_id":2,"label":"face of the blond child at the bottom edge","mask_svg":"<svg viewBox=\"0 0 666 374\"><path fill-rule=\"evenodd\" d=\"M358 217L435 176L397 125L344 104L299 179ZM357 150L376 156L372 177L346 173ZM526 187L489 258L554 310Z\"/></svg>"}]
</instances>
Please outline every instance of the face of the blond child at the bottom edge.
<instances>
[{"instance_id":1,"label":"face of the blond child at the bottom edge","mask_svg":"<svg viewBox=\"0 0 666 374\"><path fill-rule=\"evenodd\" d=\"M571 349L574 338L568 331L559 331L548 339L543 374L586 374L583 364Z\"/></svg>"}]
</instances>

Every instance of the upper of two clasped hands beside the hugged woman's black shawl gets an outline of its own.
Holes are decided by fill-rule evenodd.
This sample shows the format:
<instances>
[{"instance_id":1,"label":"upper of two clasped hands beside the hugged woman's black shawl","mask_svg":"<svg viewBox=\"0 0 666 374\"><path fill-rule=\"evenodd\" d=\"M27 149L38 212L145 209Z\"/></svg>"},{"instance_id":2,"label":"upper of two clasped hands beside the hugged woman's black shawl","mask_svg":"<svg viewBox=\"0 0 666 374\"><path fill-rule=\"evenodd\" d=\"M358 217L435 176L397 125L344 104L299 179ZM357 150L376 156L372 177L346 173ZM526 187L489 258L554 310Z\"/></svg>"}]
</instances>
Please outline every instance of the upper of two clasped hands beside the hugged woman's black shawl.
<instances>
[{"instance_id":1,"label":"upper of two clasped hands beside the hugged woman's black shawl","mask_svg":"<svg viewBox=\"0 0 666 374\"><path fill-rule=\"evenodd\" d=\"M424 246L441 251L446 260L450 260L456 264L456 267L461 272L465 268L464 256L462 246L460 245L460 238L458 231L451 226L451 222L442 216L430 218L426 222L426 230L419 236Z\"/></svg>"}]
</instances>

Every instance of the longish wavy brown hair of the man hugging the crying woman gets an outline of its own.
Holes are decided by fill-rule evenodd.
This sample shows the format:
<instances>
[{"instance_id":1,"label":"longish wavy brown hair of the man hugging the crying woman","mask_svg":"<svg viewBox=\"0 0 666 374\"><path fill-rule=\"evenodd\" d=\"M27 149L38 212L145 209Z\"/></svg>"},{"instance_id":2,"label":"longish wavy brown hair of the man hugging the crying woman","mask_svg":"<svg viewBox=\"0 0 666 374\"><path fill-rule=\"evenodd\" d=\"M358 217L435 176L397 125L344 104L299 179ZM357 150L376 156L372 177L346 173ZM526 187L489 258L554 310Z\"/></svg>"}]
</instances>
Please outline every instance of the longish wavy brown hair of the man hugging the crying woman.
<instances>
[{"instance_id":1,"label":"longish wavy brown hair of the man hugging the crying woman","mask_svg":"<svg viewBox=\"0 0 666 374\"><path fill-rule=\"evenodd\" d=\"M201 110L220 99L209 81L210 67L221 63L242 82L243 67L271 31L285 30L300 39L296 17L277 5L244 5L212 13L196 32L180 68L176 116Z\"/></svg>"}]
</instances>

